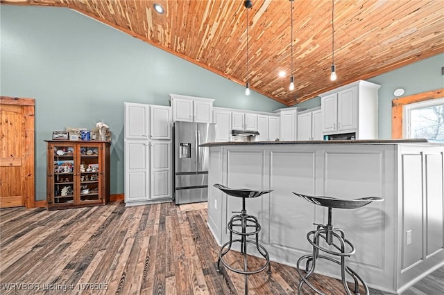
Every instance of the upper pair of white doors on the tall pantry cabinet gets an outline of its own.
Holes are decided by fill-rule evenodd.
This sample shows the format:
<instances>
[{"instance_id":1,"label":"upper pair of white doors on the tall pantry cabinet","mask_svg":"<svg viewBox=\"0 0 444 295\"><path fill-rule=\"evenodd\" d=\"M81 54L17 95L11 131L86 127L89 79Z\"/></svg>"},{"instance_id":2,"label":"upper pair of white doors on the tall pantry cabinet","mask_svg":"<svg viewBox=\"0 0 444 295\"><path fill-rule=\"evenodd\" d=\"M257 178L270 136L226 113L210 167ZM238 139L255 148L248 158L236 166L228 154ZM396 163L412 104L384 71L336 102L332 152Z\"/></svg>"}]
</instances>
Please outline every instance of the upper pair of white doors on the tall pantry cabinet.
<instances>
[{"instance_id":1,"label":"upper pair of white doors on the tall pantry cabinet","mask_svg":"<svg viewBox=\"0 0 444 295\"><path fill-rule=\"evenodd\" d=\"M125 139L171 139L171 107L125 102Z\"/></svg>"}]
</instances>

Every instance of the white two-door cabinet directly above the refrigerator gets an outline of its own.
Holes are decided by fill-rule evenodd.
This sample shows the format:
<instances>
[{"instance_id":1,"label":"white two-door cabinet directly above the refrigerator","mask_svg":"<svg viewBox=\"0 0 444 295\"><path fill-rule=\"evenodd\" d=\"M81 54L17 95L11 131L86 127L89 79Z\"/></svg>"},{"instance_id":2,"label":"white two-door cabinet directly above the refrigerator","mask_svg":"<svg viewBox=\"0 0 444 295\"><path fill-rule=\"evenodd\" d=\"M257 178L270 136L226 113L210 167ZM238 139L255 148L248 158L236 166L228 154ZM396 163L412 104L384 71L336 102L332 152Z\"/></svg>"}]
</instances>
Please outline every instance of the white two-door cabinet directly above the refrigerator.
<instances>
[{"instance_id":1,"label":"white two-door cabinet directly above the refrigerator","mask_svg":"<svg viewBox=\"0 0 444 295\"><path fill-rule=\"evenodd\" d=\"M173 121L212 123L213 102L209 98L170 94Z\"/></svg>"}]
</instances>

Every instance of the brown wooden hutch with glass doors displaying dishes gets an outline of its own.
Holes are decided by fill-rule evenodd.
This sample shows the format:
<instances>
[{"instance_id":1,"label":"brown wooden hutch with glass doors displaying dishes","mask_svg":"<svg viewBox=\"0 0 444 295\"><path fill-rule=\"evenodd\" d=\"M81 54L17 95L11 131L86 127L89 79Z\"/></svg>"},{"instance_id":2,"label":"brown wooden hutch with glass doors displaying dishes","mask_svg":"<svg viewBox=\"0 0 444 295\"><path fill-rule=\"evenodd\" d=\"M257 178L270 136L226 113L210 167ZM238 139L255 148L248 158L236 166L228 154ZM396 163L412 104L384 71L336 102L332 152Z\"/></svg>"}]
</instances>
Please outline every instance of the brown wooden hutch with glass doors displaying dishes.
<instances>
[{"instance_id":1,"label":"brown wooden hutch with glass doors displaying dishes","mask_svg":"<svg viewBox=\"0 0 444 295\"><path fill-rule=\"evenodd\" d=\"M46 143L48 210L99 206L110 201L110 142Z\"/></svg>"}]
</instances>

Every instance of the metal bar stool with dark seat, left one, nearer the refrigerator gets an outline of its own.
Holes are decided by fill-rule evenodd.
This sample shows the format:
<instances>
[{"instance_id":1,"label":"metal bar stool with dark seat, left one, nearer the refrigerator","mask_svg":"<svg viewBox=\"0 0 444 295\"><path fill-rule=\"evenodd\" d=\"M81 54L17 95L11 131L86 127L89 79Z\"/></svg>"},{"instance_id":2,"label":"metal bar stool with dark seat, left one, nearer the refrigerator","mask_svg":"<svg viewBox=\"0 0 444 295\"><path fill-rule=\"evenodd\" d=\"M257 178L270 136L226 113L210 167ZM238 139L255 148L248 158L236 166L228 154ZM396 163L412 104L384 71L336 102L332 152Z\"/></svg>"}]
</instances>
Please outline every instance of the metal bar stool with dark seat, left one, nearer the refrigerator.
<instances>
[{"instance_id":1,"label":"metal bar stool with dark seat, left one, nearer the refrigerator","mask_svg":"<svg viewBox=\"0 0 444 295\"><path fill-rule=\"evenodd\" d=\"M242 198L242 211L233 211L232 213L240 213L239 215L233 215L228 222L228 231L230 231L230 240L222 245L221 251L219 251L219 259L217 260L217 271L220 272L220 264L222 264L230 269L230 271L234 271L237 274L245 275L245 294L248 294L248 275L257 274L260 271L263 271L268 267L268 274L271 274L271 265L270 265L270 256L268 256L268 251L259 244L259 232L261 231L261 226L257 221L257 218L253 215L248 215L245 208L245 199L259 197L261 195L271 193L273 190L250 190L247 188L228 188L221 184L214 184L215 188L219 188L223 193L233 196L233 197L241 197ZM233 233L235 235L240 235L239 239L233 240ZM255 236L255 240L248 240L248 237L251 235ZM244 258L244 268L243 269L235 269L228 265L223 259L228 251L230 251L233 242L240 242L241 244L241 254ZM257 251L266 259L265 264L258 269L248 270L248 262L247 262L247 244L254 244ZM225 249L226 248L226 249Z\"/></svg>"}]
</instances>

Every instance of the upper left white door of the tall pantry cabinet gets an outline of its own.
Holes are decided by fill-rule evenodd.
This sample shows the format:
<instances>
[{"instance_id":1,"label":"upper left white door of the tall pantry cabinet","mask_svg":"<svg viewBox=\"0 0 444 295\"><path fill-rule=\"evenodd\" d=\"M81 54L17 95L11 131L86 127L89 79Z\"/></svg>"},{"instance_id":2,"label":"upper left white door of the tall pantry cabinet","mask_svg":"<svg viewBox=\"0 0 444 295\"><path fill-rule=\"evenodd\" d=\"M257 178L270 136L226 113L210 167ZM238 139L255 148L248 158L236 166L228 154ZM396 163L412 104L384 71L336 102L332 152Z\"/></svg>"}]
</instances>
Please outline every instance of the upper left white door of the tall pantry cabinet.
<instances>
[{"instance_id":1,"label":"upper left white door of the tall pantry cabinet","mask_svg":"<svg viewBox=\"0 0 444 295\"><path fill-rule=\"evenodd\" d=\"M125 102L125 138L146 139L149 134L149 106Z\"/></svg>"}]
</instances>

